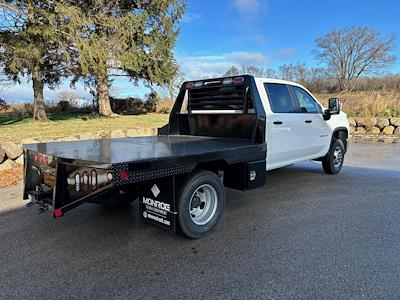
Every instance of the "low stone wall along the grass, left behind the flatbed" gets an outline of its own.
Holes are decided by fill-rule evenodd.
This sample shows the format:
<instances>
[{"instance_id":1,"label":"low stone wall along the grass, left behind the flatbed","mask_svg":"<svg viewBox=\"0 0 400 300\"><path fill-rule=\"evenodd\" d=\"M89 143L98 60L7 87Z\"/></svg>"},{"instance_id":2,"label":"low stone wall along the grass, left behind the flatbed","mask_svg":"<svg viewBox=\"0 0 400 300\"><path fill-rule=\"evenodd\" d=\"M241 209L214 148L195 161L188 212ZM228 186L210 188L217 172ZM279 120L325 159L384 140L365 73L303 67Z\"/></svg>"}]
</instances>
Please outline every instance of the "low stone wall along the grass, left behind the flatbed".
<instances>
[{"instance_id":1,"label":"low stone wall along the grass, left behind the flatbed","mask_svg":"<svg viewBox=\"0 0 400 300\"><path fill-rule=\"evenodd\" d=\"M149 135L156 134L157 129L149 129ZM0 142L0 172L15 168L18 165L23 165L24 159L22 155L23 144L35 144L46 142L66 142L79 140L93 140L101 138L123 138L142 135L143 130L137 129L113 131L100 130L96 133L83 133L81 135L67 136L59 139L26 139L18 142Z\"/></svg>"}]
</instances>

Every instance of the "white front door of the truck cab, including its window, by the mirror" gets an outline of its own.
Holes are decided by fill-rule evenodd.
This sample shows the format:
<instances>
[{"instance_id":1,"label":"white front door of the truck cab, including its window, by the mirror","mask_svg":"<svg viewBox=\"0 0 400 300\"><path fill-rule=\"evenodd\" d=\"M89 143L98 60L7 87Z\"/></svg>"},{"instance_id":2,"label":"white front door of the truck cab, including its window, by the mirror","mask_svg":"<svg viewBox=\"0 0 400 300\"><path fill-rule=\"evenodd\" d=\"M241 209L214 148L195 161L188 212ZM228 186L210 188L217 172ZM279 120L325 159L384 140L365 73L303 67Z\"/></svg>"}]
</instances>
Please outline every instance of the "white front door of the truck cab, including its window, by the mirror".
<instances>
[{"instance_id":1,"label":"white front door of the truck cab, including its window, by the mirror","mask_svg":"<svg viewBox=\"0 0 400 300\"><path fill-rule=\"evenodd\" d=\"M325 155L330 144L330 130L322 117L322 108L303 88L290 85L290 92L301 122L303 122L303 153L307 158Z\"/></svg>"}]
</instances>

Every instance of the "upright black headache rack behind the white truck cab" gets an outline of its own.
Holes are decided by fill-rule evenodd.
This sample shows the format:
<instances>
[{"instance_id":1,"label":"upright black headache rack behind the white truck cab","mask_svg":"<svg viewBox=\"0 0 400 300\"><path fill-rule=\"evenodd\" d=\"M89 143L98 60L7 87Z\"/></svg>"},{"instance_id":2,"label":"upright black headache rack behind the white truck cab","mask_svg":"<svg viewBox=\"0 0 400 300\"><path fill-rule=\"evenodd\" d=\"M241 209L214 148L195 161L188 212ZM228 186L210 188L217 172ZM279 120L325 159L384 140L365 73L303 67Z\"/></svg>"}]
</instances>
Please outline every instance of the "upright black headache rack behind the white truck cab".
<instances>
[{"instance_id":1,"label":"upright black headache rack behind the white truck cab","mask_svg":"<svg viewBox=\"0 0 400 300\"><path fill-rule=\"evenodd\" d=\"M216 78L182 85L169 124L159 134L265 142L265 112L252 76Z\"/></svg>"}]
</instances>

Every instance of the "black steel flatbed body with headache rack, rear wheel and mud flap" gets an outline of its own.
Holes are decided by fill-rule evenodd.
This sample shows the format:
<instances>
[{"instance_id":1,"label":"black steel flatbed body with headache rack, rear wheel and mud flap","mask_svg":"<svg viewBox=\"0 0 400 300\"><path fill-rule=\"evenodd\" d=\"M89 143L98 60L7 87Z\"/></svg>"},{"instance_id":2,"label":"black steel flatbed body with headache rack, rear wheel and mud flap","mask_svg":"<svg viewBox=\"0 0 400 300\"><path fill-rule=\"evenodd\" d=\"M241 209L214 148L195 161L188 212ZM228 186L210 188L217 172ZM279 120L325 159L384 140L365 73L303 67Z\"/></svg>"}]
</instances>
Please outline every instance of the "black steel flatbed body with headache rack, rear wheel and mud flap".
<instances>
[{"instance_id":1,"label":"black steel flatbed body with headache rack, rear wheel and mud flap","mask_svg":"<svg viewBox=\"0 0 400 300\"><path fill-rule=\"evenodd\" d=\"M218 222L224 186L264 185L265 122L251 76L187 83L157 136L25 145L24 199L55 218L139 199L144 222L198 238Z\"/></svg>"}]
</instances>

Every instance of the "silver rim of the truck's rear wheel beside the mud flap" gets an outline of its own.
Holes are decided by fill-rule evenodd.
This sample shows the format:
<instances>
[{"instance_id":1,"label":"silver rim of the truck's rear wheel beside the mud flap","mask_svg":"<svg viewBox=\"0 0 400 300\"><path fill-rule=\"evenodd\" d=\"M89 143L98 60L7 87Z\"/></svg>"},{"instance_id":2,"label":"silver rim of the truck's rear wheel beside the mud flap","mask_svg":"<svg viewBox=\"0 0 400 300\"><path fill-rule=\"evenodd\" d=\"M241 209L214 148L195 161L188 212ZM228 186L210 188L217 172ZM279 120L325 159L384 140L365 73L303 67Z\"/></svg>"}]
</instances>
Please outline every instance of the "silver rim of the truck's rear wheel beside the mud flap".
<instances>
[{"instance_id":1,"label":"silver rim of the truck's rear wheel beside the mud flap","mask_svg":"<svg viewBox=\"0 0 400 300\"><path fill-rule=\"evenodd\" d=\"M215 188L209 184L199 186L192 194L189 214L196 225L204 225L214 217L218 205Z\"/></svg>"}]
</instances>

